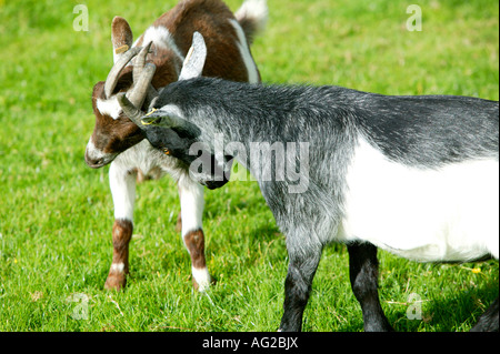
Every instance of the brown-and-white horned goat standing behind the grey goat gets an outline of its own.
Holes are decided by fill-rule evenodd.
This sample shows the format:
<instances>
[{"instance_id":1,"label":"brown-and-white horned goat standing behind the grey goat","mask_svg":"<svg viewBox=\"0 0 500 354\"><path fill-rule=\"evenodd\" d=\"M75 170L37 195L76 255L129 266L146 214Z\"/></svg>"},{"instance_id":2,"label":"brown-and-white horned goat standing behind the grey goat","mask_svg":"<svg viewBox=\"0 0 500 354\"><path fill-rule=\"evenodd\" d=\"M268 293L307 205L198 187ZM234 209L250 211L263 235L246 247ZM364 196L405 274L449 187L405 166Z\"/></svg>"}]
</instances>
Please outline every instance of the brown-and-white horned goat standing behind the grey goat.
<instances>
[{"instance_id":1,"label":"brown-and-white horned goat standing behind the grey goat","mask_svg":"<svg viewBox=\"0 0 500 354\"><path fill-rule=\"evenodd\" d=\"M181 224L182 239L191 255L193 285L203 291L211 283L204 257L203 189L184 173L181 161L157 152L144 140L137 125L123 115L117 93L126 92L136 107L147 108L158 94L157 90L178 80L194 31L207 39L204 75L259 82L260 73L249 45L266 26L267 11L266 0L247 0L234 16L220 0L183 0L133 43L128 22L120 17L113 19L114 64L106 82L98 82L93 88L96 127L86 150L90 168L111 163L113 257L106 289L126 286L137 180L167 173L178 183L181 204L178 226Z\"/></svg>"}]
</instances>

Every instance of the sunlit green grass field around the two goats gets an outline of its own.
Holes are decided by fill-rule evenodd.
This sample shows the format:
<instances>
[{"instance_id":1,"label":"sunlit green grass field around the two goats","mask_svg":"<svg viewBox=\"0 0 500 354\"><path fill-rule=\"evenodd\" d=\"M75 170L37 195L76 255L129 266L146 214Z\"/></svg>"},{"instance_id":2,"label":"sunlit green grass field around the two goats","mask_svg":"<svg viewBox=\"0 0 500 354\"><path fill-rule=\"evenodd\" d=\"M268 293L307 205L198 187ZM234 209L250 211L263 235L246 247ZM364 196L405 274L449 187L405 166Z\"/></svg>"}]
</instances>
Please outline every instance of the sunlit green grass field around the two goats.
<instances>
[{"instance_id":1,"label":"sunlit green grass field around the two goats","mask_svg":"<svg viewBox=\"0 0 500 354\"><path fill-rule=\"evenodd\" d=\"M74 31L79 2L0 0L0 331L277 330L287 251L254 182L207 191L208 266L218 280L207 295L193 292L174 231L174 182L140 184L128 287L103 290L113 208L109 168L83 161L90 94L111 67L112 17L139 34L176 0L83 1L89 30ZM236 10L241 0L227 2ZM268 2L268 29L252 48L266 82L499 99L497 1L419 1L422 31L412 32L406 9L414 2ZM382 306L398 331L467 331L498 296L498 262L379 259ZM412 293L422 320L407 317ZM362 330L341 245L324 250L303 330Z\"/></svg>"}]
</instances>

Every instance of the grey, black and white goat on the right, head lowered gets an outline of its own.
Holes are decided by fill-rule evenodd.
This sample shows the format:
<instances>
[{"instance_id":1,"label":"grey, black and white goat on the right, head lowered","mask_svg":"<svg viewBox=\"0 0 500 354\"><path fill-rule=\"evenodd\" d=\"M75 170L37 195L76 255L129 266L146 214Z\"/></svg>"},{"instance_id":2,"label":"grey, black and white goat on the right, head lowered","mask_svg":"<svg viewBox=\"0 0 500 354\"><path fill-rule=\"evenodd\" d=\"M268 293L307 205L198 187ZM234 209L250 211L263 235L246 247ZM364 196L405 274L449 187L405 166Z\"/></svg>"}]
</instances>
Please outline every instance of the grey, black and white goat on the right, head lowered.
<instances>
[{"instance_id":1,"label":"grey, black and white goat on the right, head lowered","mask_svg":"<svg viewBox=\"0 0 500 354\"><path fill-rule=\"evenodd\" d=\"M202 42L193 40L194 51ZM187 61L184 80L163 88L148 114L118 100L152 145L186 161L200 183L223 185L234 159L256 176L287 239L281 331L301 330L330 242L348 246L366 331L392 330L377 290L377 247L418 262L498 260L498 102L198 78L202 57ZM221 149L221 136L238 144ZM256 142L283 145L276 166ZM297 159L293 142L306 143L308 159ZM289 162L300 162L307 189L290 190L296 171L278 173ZM472 330L498 331L498 316L497 299Z\"/></svg>"}]
</instances>

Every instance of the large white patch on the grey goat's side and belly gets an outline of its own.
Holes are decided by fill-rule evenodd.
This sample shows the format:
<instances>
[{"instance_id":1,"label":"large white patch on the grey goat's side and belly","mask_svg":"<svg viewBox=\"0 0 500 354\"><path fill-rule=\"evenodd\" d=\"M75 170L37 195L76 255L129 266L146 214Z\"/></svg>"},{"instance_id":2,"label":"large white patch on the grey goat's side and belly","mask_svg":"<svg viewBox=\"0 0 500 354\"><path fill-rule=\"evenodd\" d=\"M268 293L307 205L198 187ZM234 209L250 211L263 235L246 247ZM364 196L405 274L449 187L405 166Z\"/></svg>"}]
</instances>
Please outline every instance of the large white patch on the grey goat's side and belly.
<instances>
[{"instance_id":1,"label":"large white patch on the grey goat's side and belly","mask_svg":"<svg viewBox=\"0 0 500 354\"><path fill-rule=\"evenodd\" d=\"M363 240L420 262L499 255L499 163L440 169L392 162L360 139L347 174L339 241Z\"/></svg>"}]
</instances>

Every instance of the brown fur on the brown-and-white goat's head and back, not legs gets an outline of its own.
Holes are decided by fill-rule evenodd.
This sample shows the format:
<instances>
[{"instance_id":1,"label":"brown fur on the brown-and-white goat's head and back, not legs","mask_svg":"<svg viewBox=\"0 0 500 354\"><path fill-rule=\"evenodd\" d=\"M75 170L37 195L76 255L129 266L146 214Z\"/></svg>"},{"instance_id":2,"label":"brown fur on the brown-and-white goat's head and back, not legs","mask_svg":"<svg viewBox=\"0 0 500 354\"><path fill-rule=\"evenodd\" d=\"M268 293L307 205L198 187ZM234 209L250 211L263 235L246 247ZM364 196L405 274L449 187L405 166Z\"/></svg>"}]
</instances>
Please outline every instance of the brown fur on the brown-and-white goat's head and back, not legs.
<instances>
[{"instance_id":1,"label":"brown fur on the brown-and-white goat's head and back, not legs","mask_svg":"<svg viewBox=\"0 0 500 354\"><path fill-rule=\"evenodd\" d=\"M220 0L184 0L179 2L172 10L162 14L153 22L154 27L166 27L179 50L186 55L188 52L192 33L199 31L207 43L207 62L203 75L224 78L232 81L248 81L248 72L240 51L236 43L237 33L229 23L234 19L231 10ZM114 45L131 42L131 31L124 19L120 18L113 26L116 38ZM126 34L119 34L122 30ZM249 36L250 33L246 33ZM141 36L137 45L142 45ZM158 90L178 80L178 68L181 67L179 58L171 50L152 48L148 54L148 61L157 67L152 85ZM132 85L132 68L127 67L120 73L120 80L113 93L127 91ZM96 128L92 141L97 149L106 153L120 153L133 146L143 139L139 129L126 117L113 120L103 115L96 108L96 100L104 99L103 82L98 82L93 88L92 105L96 115Z\"/></svg>"}]
</instances>

